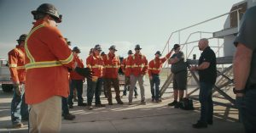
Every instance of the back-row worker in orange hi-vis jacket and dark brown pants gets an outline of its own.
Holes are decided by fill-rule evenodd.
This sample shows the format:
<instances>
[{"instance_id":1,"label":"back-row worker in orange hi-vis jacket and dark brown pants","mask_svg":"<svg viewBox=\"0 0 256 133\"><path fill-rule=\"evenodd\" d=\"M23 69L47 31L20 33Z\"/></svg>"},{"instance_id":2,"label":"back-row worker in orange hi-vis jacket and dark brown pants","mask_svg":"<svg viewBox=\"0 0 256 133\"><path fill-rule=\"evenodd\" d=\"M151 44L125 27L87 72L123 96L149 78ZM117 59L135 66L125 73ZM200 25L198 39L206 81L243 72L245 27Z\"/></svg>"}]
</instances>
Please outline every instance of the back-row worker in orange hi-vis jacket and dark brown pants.
<instances>
[{"instance_id":1,"label":"back-row worker in orange hi-vis jacket and dark brown pants","mask_svg":"<svg viewBox=\"0 0 256 133\"><path fill-rule=\"evenodd\" d=\"M112 103L112 92L111 85L113 85L115 91L115 99L118 104L124 104L121 101L120 90L119 90L119 67L120 60L119 57L114 53L117 51L115 46L111 46L108 48L109 53L106 54L103 58L104 60L104 84L106 86L107 97L108 97L108 105L113 105Z\"/></svg>"}]
</instances>

